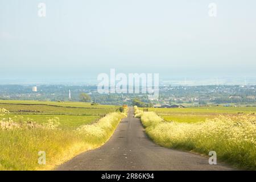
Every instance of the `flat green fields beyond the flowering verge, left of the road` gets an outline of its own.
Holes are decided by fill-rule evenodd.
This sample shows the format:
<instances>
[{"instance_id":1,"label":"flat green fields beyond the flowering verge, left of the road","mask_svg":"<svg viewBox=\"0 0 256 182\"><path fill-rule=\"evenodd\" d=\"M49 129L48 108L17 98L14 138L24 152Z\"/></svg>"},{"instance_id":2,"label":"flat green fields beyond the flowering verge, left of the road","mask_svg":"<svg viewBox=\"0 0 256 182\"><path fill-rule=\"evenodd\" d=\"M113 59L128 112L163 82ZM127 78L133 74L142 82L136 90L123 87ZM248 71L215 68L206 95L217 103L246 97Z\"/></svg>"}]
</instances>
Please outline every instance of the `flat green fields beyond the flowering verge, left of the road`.
<instances>
[{"instance_id":1,"label":"flat green fields beyond the flowering verge, left of the road","mask_svg":"<svg viewBox=\"0 0 256 182\"><path fill-rule=\"evenodd\" d=\"M90 124L105 114L115 111L117 106L96 105L84 102L44 102L44 101L3 101L0 108L10 111L8 115L14 121L32 119L36 123L47 122L48 119L58 117L61 127L78 127ZM0 116L0 119L6 116Z\"/></svg>"}]
</instances>

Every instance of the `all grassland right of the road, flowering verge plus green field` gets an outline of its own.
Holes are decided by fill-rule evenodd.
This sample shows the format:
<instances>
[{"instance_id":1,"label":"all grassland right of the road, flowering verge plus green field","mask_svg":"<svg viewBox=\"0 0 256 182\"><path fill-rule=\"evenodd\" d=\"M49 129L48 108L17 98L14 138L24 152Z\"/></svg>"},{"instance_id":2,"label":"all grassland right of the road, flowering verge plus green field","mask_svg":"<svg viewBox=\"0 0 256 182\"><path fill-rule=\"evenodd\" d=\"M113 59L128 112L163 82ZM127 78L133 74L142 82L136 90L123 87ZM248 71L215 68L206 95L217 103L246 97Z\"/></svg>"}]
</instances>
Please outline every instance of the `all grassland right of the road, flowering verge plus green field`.
<instances>
[{"instance_id":1,"label":"all grassland right of the road, flowering verge plus green field","mask_svg":"<svg viewBox=\"0 0 256 182\"><path fill-rule=\"evenodd\" d=\"M256 107L135 107L147 135L155 143L208 155L235 167L256 169Z\"/></svg>"}]
</instances>

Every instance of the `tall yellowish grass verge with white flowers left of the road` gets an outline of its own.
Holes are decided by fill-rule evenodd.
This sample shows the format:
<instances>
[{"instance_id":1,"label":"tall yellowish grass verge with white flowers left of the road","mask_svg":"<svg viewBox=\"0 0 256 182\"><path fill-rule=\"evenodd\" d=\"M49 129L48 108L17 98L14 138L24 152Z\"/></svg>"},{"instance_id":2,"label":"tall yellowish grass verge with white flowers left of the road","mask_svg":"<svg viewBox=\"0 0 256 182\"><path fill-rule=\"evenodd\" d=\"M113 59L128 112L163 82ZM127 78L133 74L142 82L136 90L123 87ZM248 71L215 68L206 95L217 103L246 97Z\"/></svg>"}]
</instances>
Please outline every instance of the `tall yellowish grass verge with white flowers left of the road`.
<instances>
[{"instance_id":1,"label":"tall yellowish grass verge with white flowers left of the road","mask_svg":"<svg viewBox=\"0 0 256 182\"><path fill-rule=\"evenodd\" d=\"M110 113L93 125L78 129L58 127L57 118L47 123L14 122L8 111L0 121L0 170L43 170L73 158L83 151L100 147L113 134L125 113ZM38 164L38 152L46 152L46 165Z\"/></svg>"}]
</instances>

